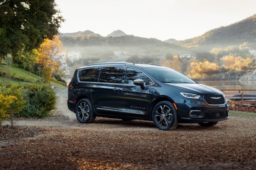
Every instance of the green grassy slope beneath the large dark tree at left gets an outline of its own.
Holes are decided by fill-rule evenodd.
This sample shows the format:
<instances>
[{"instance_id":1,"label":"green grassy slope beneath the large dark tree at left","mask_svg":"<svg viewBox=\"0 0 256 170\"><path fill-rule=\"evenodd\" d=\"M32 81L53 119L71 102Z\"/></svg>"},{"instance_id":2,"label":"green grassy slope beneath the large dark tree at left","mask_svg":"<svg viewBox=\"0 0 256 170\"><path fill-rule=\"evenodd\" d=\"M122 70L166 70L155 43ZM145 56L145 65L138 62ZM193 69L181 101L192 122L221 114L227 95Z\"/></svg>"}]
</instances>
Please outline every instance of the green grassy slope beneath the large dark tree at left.
<instances>
[{"instance_id":1,"label":"green grassy slope beneath the large dark tree at left","mask_svg":"<svg viewBox=\"0 0 256 170\"><path fill-rule=\"evenodd\" d=\"M36 82L36 81L41 81L42 78L40 78L39 76L29 73L29 71L27 70L23 70L21 68L15 68L15 67L10 67L10 66L6 66L6 65L0 65L0 85L4 85L4 81L8 81L8 78L5 77L5 75L7 74L10 75L10 79L9 79L9 84L14 84L14 85L19 85L19 84L28 84L31 82ZM4 75L4 76L2 76ZM65 86L55 83L55 82L51 82L51 84L55 87L55 88L60 88L60 89L64 89L66 88Z\"/></svg>"}]
</instances>

